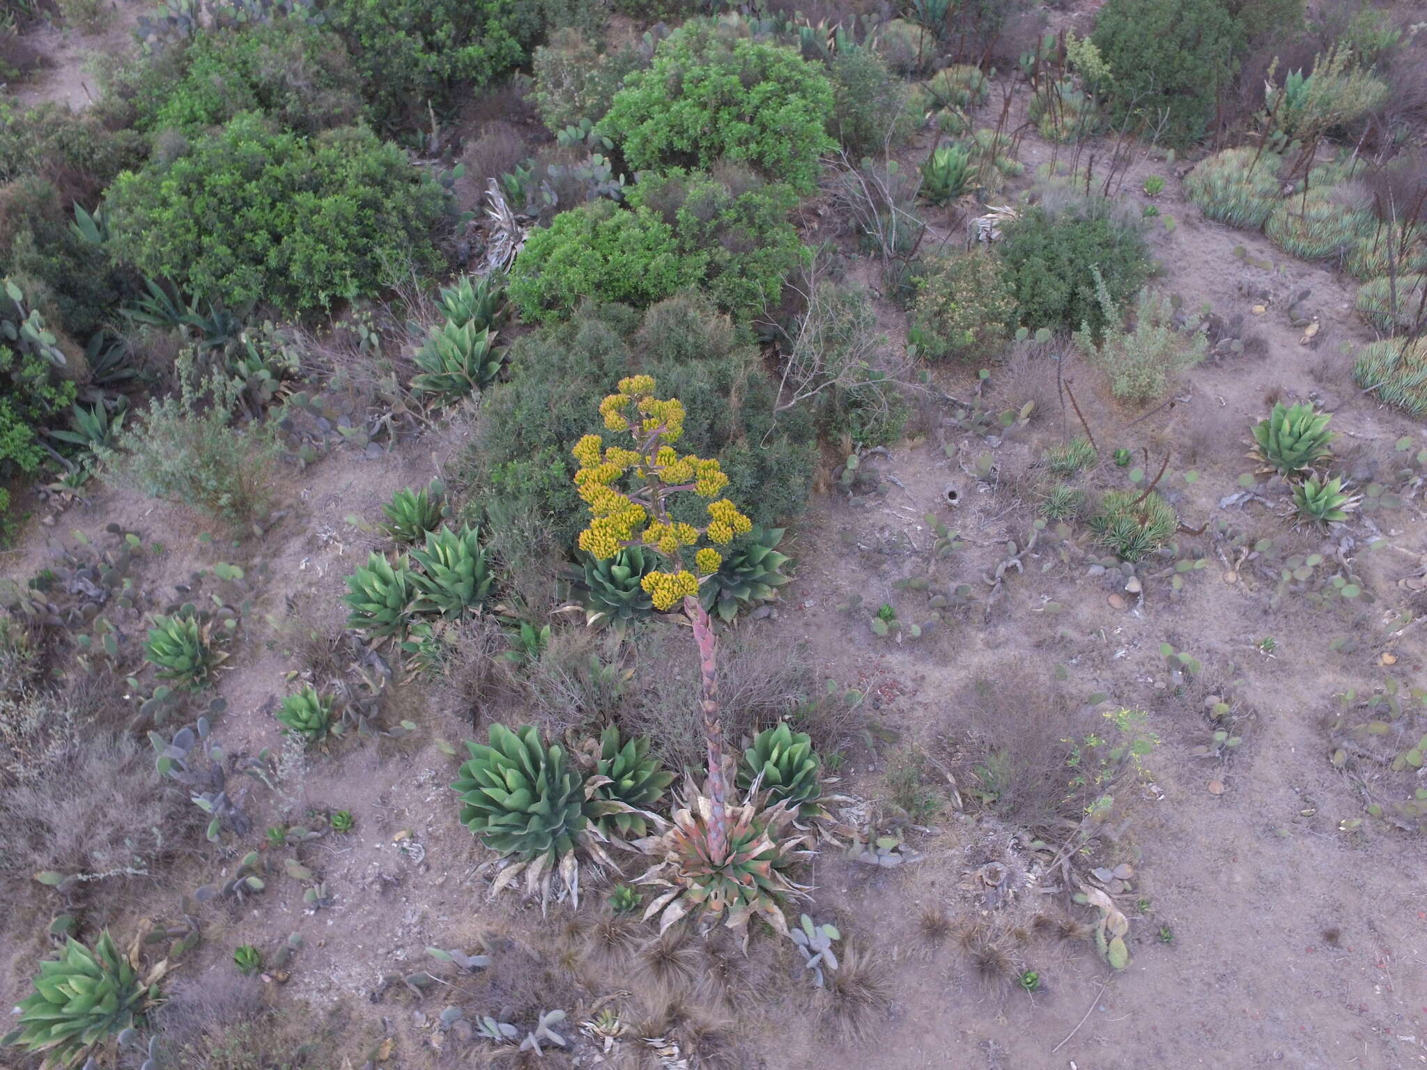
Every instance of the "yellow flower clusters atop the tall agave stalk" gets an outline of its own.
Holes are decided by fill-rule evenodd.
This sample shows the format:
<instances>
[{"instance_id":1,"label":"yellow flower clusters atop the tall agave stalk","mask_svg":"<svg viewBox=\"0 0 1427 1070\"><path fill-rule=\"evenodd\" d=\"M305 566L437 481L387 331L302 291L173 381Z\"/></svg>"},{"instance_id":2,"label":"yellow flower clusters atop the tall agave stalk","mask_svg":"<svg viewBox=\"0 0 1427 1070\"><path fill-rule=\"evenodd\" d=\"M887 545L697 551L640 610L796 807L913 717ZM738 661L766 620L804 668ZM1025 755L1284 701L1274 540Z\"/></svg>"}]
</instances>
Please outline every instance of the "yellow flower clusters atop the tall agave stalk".
<instances>
[{"instance_id":1,"label":"yellow flower clusters atop the tall agave stalk","mask_svg":"<svg viewBox=\"0 0 1427 1070\"><path fill-rule=\"evenodd\" d=\"M704 529L681 521L665 521L664 499L678 491L692 491L714 498L728 477L718 461L679 454L674 448L684 435L684 405L678 398L654 397L652 375L631 375L619 381L619 392L599 402L599 414L609 431L628 431L638 449L605 447L599 435L585 435L571 451L579 462L575 486L589 506L589 526L579 532L579 548L594 558L612 558L621 546L641 544L679 564L679 551L694 546L702 536L728 544L753 524L728 498L708 504L709 522ZM649 491L649 505L634 501L616 484L634 475ZM654 509L656 515L651 514ZM694 554L695 568L704 575L718 572L723 555L712 546ZM682 598L698 593L699 584L685 568L651 572L641 581L656 609L665 611Z\"/></svg>"}]
</instances>

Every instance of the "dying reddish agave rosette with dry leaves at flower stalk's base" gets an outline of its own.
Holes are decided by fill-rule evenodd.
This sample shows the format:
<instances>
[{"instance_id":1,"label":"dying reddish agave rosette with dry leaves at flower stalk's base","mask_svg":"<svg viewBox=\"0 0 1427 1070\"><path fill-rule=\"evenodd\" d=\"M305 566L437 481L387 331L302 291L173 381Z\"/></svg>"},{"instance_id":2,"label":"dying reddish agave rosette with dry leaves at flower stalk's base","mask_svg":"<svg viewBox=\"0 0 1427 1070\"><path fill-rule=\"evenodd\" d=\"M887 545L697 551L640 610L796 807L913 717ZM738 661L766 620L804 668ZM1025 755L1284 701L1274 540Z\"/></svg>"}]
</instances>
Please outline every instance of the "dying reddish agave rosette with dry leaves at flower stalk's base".
<instances>
[{"instance_id":1,"label":"dying reddish agave rosette with dry leaves at flower stalk's base","mask_svg":"<svg viewBox=\"0 0 1427 1070\"><path fill-rule=\"evenodd\" d=\"M666 889L645 907L644 920L658 917L662 933L685 916L709 923L722 919L746 946L748 923L762 917L788 936L781 905L806 899L808 889L785 870L812 852L802 849L806 833L793 827L792 809L786 803L766 806L766 798L759 793L742 803L729 802L728 849L718 856L711 842L714 800L691 782L672 825L635 843L658 862L634 883ZM792 835L786 835L789 827Z\"/></svg>"}]
</instances>

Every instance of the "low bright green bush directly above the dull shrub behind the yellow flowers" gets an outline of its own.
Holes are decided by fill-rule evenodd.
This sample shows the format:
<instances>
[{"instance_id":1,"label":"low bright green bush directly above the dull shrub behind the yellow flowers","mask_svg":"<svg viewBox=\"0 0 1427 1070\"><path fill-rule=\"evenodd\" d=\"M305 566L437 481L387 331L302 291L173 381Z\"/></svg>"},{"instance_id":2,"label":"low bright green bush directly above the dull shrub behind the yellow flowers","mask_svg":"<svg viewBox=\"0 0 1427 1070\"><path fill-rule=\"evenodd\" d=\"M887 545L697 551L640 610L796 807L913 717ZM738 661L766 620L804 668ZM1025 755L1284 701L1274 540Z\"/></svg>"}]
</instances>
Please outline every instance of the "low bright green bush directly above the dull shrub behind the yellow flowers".
<instances>
[{"instance_id":1,"label":"low bright green bush directly above the dull shrub behind the yellow flowers","mask_svg":"<svg viewBox=\"0 0 1427 1070\"><path fill-rule=\"evenodd\" d=\"M698 282L706 264L705 254L682 254L674 227L651 210L601 200L531 233L509 295L525 320L559 320L585 298L652 304Z\"/></svg>"}]
</instances>

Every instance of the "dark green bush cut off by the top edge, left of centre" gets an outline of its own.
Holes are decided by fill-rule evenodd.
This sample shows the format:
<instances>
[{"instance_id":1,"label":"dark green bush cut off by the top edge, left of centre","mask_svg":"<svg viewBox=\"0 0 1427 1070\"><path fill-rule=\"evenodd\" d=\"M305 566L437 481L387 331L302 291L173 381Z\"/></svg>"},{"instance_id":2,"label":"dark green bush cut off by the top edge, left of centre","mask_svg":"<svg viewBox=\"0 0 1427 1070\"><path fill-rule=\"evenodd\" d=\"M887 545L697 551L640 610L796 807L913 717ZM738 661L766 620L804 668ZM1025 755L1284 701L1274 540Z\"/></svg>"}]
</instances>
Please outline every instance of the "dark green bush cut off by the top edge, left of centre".
<instances>
[{"instance_id":1,"label":"dark green bush cut off by the top edge, left of centre","mask_svg":"<svg viewBox=\"0 0 1427 1070\"><path fill-rule=\"evenodd\" d=\"M327 0L378 121L424 126L458 87L482 88L525 58L539 30L524 0Z\"/></svg>"}]
</instances>

